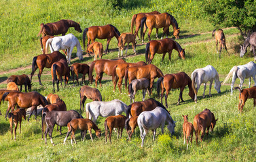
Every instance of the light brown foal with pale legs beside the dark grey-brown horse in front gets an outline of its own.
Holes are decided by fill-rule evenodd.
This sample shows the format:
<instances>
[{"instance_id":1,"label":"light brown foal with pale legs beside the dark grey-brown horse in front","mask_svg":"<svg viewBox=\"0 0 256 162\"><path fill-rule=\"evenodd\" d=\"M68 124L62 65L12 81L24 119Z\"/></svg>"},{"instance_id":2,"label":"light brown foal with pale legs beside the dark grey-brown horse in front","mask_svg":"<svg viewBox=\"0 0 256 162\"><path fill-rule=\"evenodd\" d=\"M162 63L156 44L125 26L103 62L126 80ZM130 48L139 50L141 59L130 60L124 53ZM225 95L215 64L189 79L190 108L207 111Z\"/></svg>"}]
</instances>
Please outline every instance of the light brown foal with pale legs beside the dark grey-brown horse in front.
<instances>
[{"instance_id":1,"label":"light brown foal with pale legs beside the dark grey-brown horse in front","mask_svg":"<svg viewBox=\"0 0 256 162\"><path fill-rule=\"evenodd\" d=\"M91 140L93 142L92 139L92 129L95 131L95 134L98 138L100 138L101 136L101 132L100 129L98 128L98 126L96 124L94 124L94 122L90 119L73 119L71 120L68 124L67 124L67 128L68 128L68 132L67 132L67 136L64 140L64 144L67 140L67 137L69 136L69 134L72 132L71 134L71 144L73 145L73 140L75 141L75 144L77 143L77 141L75 140L75 131L77 129L81 130L81 138L84 141L84 138L86 138L86 133L87 130L90 134Z\"/></svg>"}]
</instances>

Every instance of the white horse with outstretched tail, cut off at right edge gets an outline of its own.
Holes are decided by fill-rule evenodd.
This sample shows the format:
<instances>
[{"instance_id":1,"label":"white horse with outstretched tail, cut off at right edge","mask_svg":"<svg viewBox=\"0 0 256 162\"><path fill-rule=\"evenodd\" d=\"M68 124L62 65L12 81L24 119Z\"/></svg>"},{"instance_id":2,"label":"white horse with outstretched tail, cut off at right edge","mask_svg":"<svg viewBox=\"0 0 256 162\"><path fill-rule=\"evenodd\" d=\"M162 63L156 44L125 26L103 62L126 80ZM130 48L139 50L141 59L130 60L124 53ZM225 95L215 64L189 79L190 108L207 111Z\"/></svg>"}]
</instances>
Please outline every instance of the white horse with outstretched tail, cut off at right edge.
<instances>
[{"instance_id":1,"label":"white horse with outstretched tail, cut off at right edge","mask_svg":"<svg viewBox=\"0 0 256 162\"><path fill-rule=\"evenodd\" d=\"M234 66L229 74L227 74L227 77L223 81L223 84L227 82L227 80L230 78L230 76L233 74L232 78L232 84L231 84L231 94L233 93L233 87L234 83L236 81L236 78L240 79L240 84L239 87L242 88L242 84L244 83L244 79L249 78L249 88L251 86L251 77L253 77L254 81L254 86L256 86L256 80L255 80L255 75L256 75L256 64L251 61L249 63L246 63L245 65L238 65Z\"/></svg>"}]
</instances>

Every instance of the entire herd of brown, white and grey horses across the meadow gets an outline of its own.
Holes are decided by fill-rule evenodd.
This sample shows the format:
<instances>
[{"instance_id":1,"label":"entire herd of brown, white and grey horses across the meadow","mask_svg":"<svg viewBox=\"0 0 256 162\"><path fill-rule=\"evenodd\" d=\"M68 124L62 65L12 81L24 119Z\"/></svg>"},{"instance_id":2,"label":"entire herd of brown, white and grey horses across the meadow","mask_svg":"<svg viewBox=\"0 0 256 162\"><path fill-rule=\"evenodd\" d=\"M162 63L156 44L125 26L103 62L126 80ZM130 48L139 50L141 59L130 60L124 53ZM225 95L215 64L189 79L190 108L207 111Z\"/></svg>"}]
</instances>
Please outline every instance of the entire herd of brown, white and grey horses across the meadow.
<instances>
[{"instance_id":1,"label":"entire herd of brown, white and grey horses across the meadow","mask_svg":"<svg viewBox=\"0 0 256 162\"><path fill-rule=\"evenodd\" d=\"M133 34L133 27L136 26L136 30ZM75 131L77 129L81 130L81 138L84 140L86 137L86 132L90 134L92 138L92 129L95 131L95 134L98 138L101 136L101 130L96 126L96 120L99 116L107 117L105 119L105 141L107 142L107 136L109 136L109 141L111 142L111 134L113 128L117 128L117 138L119 135L122 137L123 129L126 128L128 133L128 138L131 140L131 136L134 132L134 129L138 126L141 132L141 146L144 144L145 136L149 130L153 131L153 140L156 137L156 129L161 127L162 133L164 133L164 125L168 124L167 128L171 134L175 133L175 122L170 116L170 112L166 109L168 108L167 98L170 90L172 88L180 88L179 100L177 105L183 101L183 90L185 86L189 88L189 97L196 103L198 101L197 95L200 85L204 83L204 92L202 97L205 97L206 82L210 82L209 96L211 97L211 86L213 81L215 81L215 89L218 93L221 92L221 82L219 81L219 74L217 70L212 65L207 65L204 68L196 69L191 74L191 78L185 73L180 72L177 74L166 74L156 67L156 65L151 64L153 57L156 53L163 54L162 61L166 53L168 53L169 60L171 58L172 50L175 49L179 53L179 57L185 59L185 49L177 43L177 41L172 40L171 38L164 38L169 35L169 26L172 25L173 35L175 38L179 39L180 28L178 26L177 20L168 13L161 14L158 11L153 11L150 13L139 13L132 16L131 22L131 33L122 33L120 34L119 30L111 24L106 26L91 26L85 28L82 38L83 45L86 53L90 55L94 54L94 61L88 65L86 63L73 63L71 64L71 53L74 47L77 47L77 57L83 59L83 51L79 40L73 34L67 34L67 31L70 27L74 27L78 32L82 32L79 23L72 20L60 20L54 23L41 24L41 30L38 34L42 34L40 38L41 49L43 54L37 55L33 58L32 62L32 72L31 78L26 74L20 76L10 76L7 79L8 85L7 90L0 90L0 104L1 101L8 101L9 105L5 113L5 117L10 118L10 127L12 132L13 123L15 124L14 128L14 140L16 140L16 128L18 123L20 123L22 117L26 119L26 109L31 107L31 113L28 117L28 121L35 112L35 119L37 119L37 106L42 105L42 118L41 118L41 128L42 128L42 139L44 137L45 144L47 140L47 135L49 134L50 141L54 144L52 140L52 132L55 125L61 127L67 126L68 132L64 140L66 142L69 134L71 134L71 144L75 140ZM120 57L120 51L123 57L122 50L124 49L126 43L126 55L129 43L132 43L132 48L136 55L136 36L139 38L139 28L141 28L141 40L144 41L144 36L147 28L149 32L147 34L149 38L149 43L145 46L145 62L139 61L137 63L127 63L124 59L102 59L103 57L103 45L102 43L95 42L96 38L98 39L107 39L107 47L105 53L109 52L109 43L111 38L115 37L118 41L118 57ZM150 35L153 30L156 28L156 38L158 38L158 29L163 28L162 40L151 41ZM62 34L62 36L55 36ZM213 36L215 34L216 38L216 47L218 52L218 43L220 44L219 57L221 57L221 49L227 51L225 45L225 36L223 30L213 30ZM85 46L86 36L88 38L87 49ZM256 33L251 34L244 45L241 46L240 57L246 53L246 48L251 45L251 49L255 55L255 43L256 43ZM50 48L51 53L48 54L48 49ZM65 53L66 57L59 52L59 50ZM97 59L99 57L99 59ZM255 57L256 59L256 57ZM79 85L78 76L82 74L81 78L81 88L79 90L80 96L80 113L84 111L84 103L86 99L92 100L92 102L86 104L86 118L77 111L70 110L67 111L67 106L58 94L49 94L47 99L43 97L39 92L27 92L27 88L31 91L32 86L32 76L35 74L35 71L39 69L38 79L39 84L41 85L41 74L43 68L51 68L52 74L52 84L53 92L55 92L54 84L57 84L57 90L59 90L58 84L62 84L62 80L65 80L65 85L68 84L69 78L73 78L73 86L75 86L74 76L76 76L77 86ZM113 101L103 101L100 91L97 88L92 88L86 86L85 75L88 74L88 80L92 84L93 82L93 72L96 73L95 76L95 86L97 87L98 82L102 86L101 82L103 79L103 74L107 74L112 77L113 82L113 91L115 92L116 84L121 92L122 90L122 80L125 79L124 87L128 90L130 95L130 105L114 99ZM239 94L239 104L238 109L242 113L244 103L247 99L254 99L254 106L256 105L256 88L255 86L250 88L251 77L253 77L254 82L256 75L256 64L251 61L246 65L234 66L230 73L227 75L227 78L224 80L223 84L227 82L230 76L233 74L233 80L231 84L231 94L234 88L234 82L236 78L240 78L240 85L235 89L240 91ZM145 93L149 94L149 97L153 90L154 80L158 78L156 88L158 97L160 97L161 90L161 103L155 99L145 100ZM249 88L242 89L242 84L244 78L249 78ZM118 83L117 83L118 81ZM129 82L129 84L128 84ZM82 86L85 84L85 86ZM20 89L17 85L20 85ZM25 86L25 92L22 91L22 85ZM255 82L256 85L256 82ZM134 102L135 94L137 90L143 90L143 101ZM162 101L162 98L165 94L165 107ZM132 102L133 101L133 102ZM15 110L16 107L16 110ZM83 107L83 109L81 109ZM9 113L10 109L12 112ZM1 111L0 111L1 113ZM122 113L126 113L122 115ZM201 145L202 138L204 134L208 134L208 130L215 128L216 121L215 115L209 109L204 109L204 111L198 113L194 117L194 122L191 124L187 119L188 115L182 115L184 119L183 123L183 136L184 144L185 139L187 139L187 148L188 148L188 138L190 136L190 141L192 142L193 133L196 135L196 144L198 144L198 136L200 136ZM58 127L57 127L58 130Z\"/></svg>"}]
</instances>

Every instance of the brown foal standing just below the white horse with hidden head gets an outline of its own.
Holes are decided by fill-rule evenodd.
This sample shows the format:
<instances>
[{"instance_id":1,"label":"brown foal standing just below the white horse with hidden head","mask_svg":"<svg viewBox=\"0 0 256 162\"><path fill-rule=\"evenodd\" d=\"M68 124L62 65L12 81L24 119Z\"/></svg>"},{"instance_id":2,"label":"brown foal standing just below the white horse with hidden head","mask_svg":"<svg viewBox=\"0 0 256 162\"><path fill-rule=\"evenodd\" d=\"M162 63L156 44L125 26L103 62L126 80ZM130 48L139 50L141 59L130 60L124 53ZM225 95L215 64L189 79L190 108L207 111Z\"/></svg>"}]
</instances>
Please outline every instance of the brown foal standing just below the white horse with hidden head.
<instances>
[{"instance_id":1,"label":"brown foal standing just below the white horse with hidden head","mask_svg":"<svg viewBox=\"0 0 256 162\"><path fill-rule=\"evenodd\" d=\"M107 143L108 130L109 130L109 141L111 143L111 134L112 134L113 128L118 129L117 139L119 138L119 134L120 134L120 130L121 130L121 136L120 137L122 138L125 121L126 121L126 116L124 116L124 115L109 116L109 117L107 117L107 119L105 119L104 126L105 126L105 140L106 140L106 143Z\"/></svg>"}]
</instances>

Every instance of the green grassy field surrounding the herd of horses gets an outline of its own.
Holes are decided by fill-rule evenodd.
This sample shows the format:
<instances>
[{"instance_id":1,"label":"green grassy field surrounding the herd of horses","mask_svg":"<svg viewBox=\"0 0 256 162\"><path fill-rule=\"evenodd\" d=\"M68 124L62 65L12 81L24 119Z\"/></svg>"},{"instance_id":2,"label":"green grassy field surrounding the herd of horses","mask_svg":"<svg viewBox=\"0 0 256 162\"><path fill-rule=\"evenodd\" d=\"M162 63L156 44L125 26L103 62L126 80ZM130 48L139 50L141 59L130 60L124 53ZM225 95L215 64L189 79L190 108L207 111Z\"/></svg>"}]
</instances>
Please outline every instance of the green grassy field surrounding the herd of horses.
<instances>
[{"instance_id":1,"label":"green grassy field surrounding the herd of horses","mask_svg":"<svg viewBox=\"0 0 256 162\"><path fill-rule=\"evenodd\" d=\"M225 29L227 38L227 51L216 53L215 38L211 36L214 29L203 16L200 15L200 3L198 1L1 1L0 5L4 9L0 11L0 88L6 87L7 77L13 74L31 74L32 59L35 55L41 54L39 46L39 24L41 22L56 22L60 19L71 19L80 22L82 30L88 26L113 24L120 32L130 32L130 19L133 14L158 10L168 11L175 16L181 27L181 39L177 40L183 49L185 48L185 60L179 59L177 51L172 52L171 61L167 56L163 62L162 55L156 55L153 64L158 66L164 74L186 72L191 73L196 68L203 68L210 64L219 72L220 80L223 81L227 73L234 65L242 65L253 61L252 54L247 53L244 58L239 57L240 47L243 38L236 28ZM134 5L135 3L135 5ZM176 4L176 5L175 5ZM198 4L198 5L196 5ZM10 7L13 6L13 7ZM81 34L73 28L69 32L75 34L82 43ZM151 38L155 39L155 32ZM172 34L172 28L170 28ZM160 34L162 31L160 30ZM160 35L159 34L159 35ZM172 36L173 37L173 36ZM105 48L106 40L97 40L103 43ZM147 36L145 36L145 41ZM131 49L128 50L127 62L145 61L145 45L138 41L136 51L139 55L134 56ZM103 55L103 59L115 59L117 57L117 40L111 40L109 48L111 53ZM249 51L249 50L248 50ZM86 57L79 61L73 51L71 63L82 62L90 64L93 57ZM12 70L12 71L10 71ZM38 70L37 70L38 72ZM41 80L43 86L38 83L36 75L33 76L32 90L38 91L44 96L52 92L52 77L50 69L43 70ZM130 104L127 92L122 88L123 93L116 90L113 92L113 84L109 76L103 76L103 86L98 87L103 101L120 99L127 105ZM81 80L81 76L80 76ZM155 80L156 83L156 80ZM86 76L88 84L88 76ZM238 86L239 80L236 80ZM94 87L95 84L90 84ZM156 87L156 86L155 86ZM245 80L243 88L248 87L248 79ZM66 88L60 87L56 92L65 101L67 109L79 110L79 88L73 87L73 82L69 82ZM177 121L175 135L168 134L168 129L164 128L164 134L157 130L156 140L152 140L153 134L149 132L145 138L145 146L141 148L141 138L139 128L132 136L131 142L127 140L127 134L123 132L123 138L117 139L117 134L112 135L112 144L105 144L105 118L99 117L96 124L103 130L102 138L96 138L94 131L94 142L90 136L86 136L84 142L81 141L79 131L77 131L77 144L71 146L70 137L67 144L63 140L67 133L67 128L62 129L63 135L59 135L54 128L53 140L56 146L45 145L41 140L41 117L31 121L22 121L21 134L17 131L17 140L11 140L10 124L4 116L0 116L0 161L255 161L255 140L256 140L256 111L253 108L253 101L249 99L243 114L238 112L238 92L230 95L230 81L221 86L221 93L212 87L213 97L208 96L208 86L206 88L206 98L202 98L203 85L198 92L198 103L194 103L187 95L188 88L183 91L185 103L177 105L179 90L171 90L168 96L168 107L170 115ZM157 98L156 88L153 88L151 97ZM149 99L148 95L146 98ZM142 93L139 91L135 97L136 101L142 100ZM91 102L87 100L86 103ZM215 130L204 137L203 147L196 146L195 138L193 144L183 144L182 114L189 114L189 121L193 121L194 116L203 109L211 109L219 120ZM7 109L7 103L0 105L2 113ZM86 112L82 115L86 117ZM200 144L200 143L199 143Z\"/></svg>"}]
</instances>

